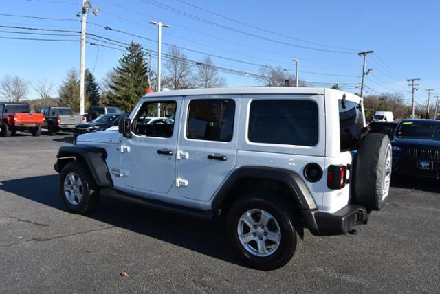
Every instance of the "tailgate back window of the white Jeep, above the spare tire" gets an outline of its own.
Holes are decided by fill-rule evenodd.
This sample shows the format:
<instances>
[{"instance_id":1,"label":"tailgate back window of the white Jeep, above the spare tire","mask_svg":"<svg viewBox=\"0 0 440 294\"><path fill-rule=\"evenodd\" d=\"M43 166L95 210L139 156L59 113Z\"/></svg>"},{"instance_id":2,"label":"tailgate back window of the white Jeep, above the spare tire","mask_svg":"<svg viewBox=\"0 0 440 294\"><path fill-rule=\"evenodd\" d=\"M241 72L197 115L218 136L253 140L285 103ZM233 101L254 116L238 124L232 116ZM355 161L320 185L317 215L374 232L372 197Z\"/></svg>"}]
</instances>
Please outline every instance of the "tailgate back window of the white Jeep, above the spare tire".
<instances>
[{"instance_id":1,"label":"tailgate back window of the white Jeep, above the spare tire","mask_svg":"<svg viewBox=\"0 0 440 294\"><path fill-rule=\"evenodd\" d=\"M341 151L356 150L364 126L364 115L360 104L339 100L339 127Z\"/></svg>"}]
</instances>

